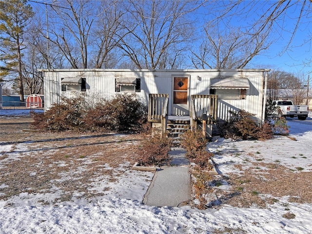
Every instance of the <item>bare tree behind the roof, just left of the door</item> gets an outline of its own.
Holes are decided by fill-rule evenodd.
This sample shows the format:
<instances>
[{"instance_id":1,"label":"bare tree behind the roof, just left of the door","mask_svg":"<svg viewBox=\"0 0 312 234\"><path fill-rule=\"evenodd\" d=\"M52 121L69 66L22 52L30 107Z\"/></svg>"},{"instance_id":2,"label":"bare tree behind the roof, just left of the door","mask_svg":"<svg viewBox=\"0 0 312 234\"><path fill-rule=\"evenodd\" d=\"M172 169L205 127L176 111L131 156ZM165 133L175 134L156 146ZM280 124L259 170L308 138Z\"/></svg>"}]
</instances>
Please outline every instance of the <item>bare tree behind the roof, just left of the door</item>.
<instances>
[{"instance_id":1,"label":"bare tree behind the roof, just left of the door","mask_svg":"<svg viewBox=\"0 0 312 234\"><path fill-rule=\"evenodd\" d=\"M190 0L130 0L126 35L119 36L119 47L137 68L175 67L192 40L194 31L190 13L199 4Z\"/></svg>"}]
</instances>

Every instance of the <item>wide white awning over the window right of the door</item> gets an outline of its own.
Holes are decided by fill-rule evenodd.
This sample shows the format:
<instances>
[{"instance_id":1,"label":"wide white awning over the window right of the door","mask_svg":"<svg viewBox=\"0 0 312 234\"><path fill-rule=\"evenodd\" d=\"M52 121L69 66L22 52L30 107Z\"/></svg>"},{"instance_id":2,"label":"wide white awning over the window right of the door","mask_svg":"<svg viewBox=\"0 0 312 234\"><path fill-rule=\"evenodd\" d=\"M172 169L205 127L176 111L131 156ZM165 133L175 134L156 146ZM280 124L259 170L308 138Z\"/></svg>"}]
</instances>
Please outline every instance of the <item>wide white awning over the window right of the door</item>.
<instances>
[{"instance_id":1,"label":"wide white awning over the window right of the door","mask_svg":"<svg viewBox=\"0 0 312 234\"><path fill-rule=\"evenodd\" d=\"M212 89L249 89L248 78L213 78L211 79Z\"/></svg>"}]
</instances>

